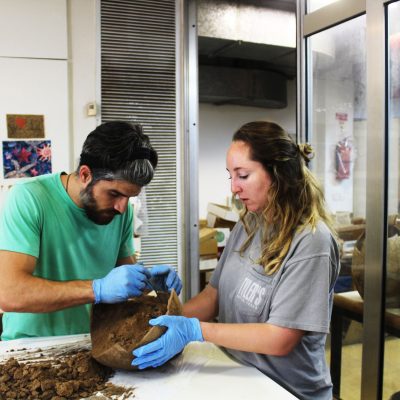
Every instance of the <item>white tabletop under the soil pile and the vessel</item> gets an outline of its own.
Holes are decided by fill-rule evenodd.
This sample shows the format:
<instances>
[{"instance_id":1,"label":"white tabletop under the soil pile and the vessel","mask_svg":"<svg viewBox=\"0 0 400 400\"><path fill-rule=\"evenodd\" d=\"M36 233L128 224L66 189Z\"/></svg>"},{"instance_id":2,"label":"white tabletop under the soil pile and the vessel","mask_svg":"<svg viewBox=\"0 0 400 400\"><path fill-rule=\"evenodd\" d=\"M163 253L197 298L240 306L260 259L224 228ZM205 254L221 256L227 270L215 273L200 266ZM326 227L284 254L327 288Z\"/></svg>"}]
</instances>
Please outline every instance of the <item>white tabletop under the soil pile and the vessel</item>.
<instances>
[{"instance_id":1,"label":"white tabletop under the soil pile and the vessel","mask_svg":"<svg viewBox=\"0 0 400 400\"><path fill-rule=\"evenodd\" d=\"M88 335L54 336L0 342L0 361L18 354L18 349L90 347ZM13 349L12 353L9 350ZM26 350L24 350L26 352ZM228 357L211 343L191 343L166 365L145 371L117 371L110 381L134 387L134 400L247 400L296 399L255 368Z\"/></svg>"}]
</instances>

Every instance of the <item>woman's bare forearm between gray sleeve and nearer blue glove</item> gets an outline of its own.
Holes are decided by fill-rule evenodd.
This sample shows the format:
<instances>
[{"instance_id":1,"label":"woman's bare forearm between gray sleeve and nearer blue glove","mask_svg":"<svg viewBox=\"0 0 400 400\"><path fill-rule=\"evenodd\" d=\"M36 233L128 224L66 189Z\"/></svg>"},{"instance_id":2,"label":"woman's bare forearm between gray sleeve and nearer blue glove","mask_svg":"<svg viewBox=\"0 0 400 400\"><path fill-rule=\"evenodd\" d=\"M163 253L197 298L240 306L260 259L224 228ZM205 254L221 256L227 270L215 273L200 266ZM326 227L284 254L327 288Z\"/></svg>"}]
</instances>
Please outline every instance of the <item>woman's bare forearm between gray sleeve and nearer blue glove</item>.
<instances>
[{"instance_id":1,"label":"woman's bare forearm between gray sleeve and nearer blue glove","mask_svg":"<svg viewBox=\"0 0 400 400\"><path fill-rule=\"evenodd\" d=\"M200 322L204 340L232 350L284 356L299 343L304 331L268 323Z\"/></svg>"}]
</instances>

